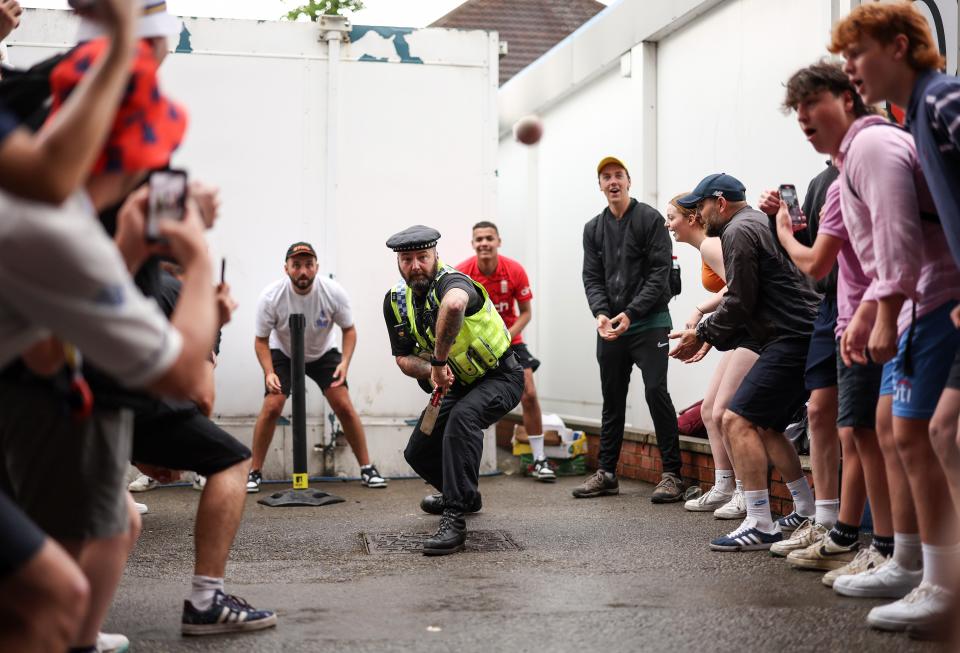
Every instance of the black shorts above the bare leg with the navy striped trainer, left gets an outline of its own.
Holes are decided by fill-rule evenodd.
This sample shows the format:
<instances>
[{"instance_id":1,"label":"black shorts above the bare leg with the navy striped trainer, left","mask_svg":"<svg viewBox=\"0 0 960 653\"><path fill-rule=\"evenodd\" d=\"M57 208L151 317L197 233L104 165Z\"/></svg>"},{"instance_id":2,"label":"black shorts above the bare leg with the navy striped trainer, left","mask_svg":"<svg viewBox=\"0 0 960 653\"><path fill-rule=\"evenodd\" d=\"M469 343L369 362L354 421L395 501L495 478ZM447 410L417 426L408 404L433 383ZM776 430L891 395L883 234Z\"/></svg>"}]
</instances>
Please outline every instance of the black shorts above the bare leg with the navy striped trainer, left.
<instances>
[{"instance_id":1,"label":"black shorts above the bare leg with the navy striped trainer, left","mask_svg":"<svg viewBox=\"0 0 960 653\"><path fill-rule=\"evenodd\" d=\"M250 450L199 410L138 413L130 458L134 463L212 476L248 460Z\"/></svg>"}]
</instances>

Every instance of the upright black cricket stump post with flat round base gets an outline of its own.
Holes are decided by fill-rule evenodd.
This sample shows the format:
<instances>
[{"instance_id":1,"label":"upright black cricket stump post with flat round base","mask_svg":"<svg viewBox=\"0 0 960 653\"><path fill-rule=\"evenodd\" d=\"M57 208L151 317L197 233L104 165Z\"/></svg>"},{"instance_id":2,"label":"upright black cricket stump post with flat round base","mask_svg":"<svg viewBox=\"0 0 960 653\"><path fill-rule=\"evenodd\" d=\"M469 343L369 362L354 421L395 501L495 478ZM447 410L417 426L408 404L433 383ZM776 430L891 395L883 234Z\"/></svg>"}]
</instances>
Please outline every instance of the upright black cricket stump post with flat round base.
<instances>
[{"instance_id":1,"label":"upright black cricket stump post with flat round base","mask_svg":"<svg viewBox=\"0 0 960 653\"><path fill-rule=\"evenodd\" d=\"M290 394L293 399L293 489L274 492L257 501L265 506L325 506L343 503L343 498L311 490L307 475L307 397L303 334L307 320L302 313L290 316Z\"/></svg>"}]
</instances>

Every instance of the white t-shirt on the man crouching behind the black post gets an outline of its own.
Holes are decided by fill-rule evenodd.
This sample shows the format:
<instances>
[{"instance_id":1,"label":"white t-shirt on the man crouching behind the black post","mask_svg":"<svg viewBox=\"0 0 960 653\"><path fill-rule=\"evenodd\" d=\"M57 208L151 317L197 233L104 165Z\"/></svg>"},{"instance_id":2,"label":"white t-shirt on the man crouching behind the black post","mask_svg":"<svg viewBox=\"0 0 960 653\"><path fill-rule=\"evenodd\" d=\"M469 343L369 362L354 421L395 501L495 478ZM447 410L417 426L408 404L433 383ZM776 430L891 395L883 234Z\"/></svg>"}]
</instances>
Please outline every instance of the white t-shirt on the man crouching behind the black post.
<instances>
[{"instance_id":1,"label":"white t-shirt on the man crouching behind the black post","mask_svg":"<svg viewBox=\"0 0 960 653\"><path fill-rule=\"evenodd\" d=\"M296 313L306 317L303 357L308 363L336 347L334 324L341 329L353 326L347 291L333 279L318 274L306 295L297 294L289 278L267 286L257 301L256 336L269 337L270 349L279 349L290 357L290 316Z\"/></svg>"}]
</instances>

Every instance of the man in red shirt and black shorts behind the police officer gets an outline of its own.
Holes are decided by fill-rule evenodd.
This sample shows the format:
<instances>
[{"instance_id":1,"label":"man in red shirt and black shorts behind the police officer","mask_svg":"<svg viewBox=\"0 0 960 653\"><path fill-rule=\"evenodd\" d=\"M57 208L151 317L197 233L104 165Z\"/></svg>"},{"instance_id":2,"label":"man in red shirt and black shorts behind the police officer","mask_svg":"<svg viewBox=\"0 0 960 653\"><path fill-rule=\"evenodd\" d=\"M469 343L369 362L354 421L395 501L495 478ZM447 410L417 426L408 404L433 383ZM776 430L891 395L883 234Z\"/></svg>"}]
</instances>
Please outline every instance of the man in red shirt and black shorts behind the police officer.
<instances>
[{"instance_id":1,"label":"man in red shirt and black shorts behind the police officer","mask_svg":"<svg viewBox=\"0 0 960 653\"><path fill-rule=\"evenodd\" d=\"M457 269L483 284L490 295L490 301L510 330L510 347L523 366L524 386L520 405L523 407L523 426L527 430L530 448L533 450L533 477L552 483L557 480L557 475L543 452L543 422L537 388L533 383L533 373L540 367L540 361L533 357L520 335L533 317L530 307L533 292L530 290L527 272L513 259L498 254L502 241L497 225L492 222L483 221L473 225L470 244L477 255L462 262ZM519 311L514 308L514 303Z\"/></svg>"}]
</instances>

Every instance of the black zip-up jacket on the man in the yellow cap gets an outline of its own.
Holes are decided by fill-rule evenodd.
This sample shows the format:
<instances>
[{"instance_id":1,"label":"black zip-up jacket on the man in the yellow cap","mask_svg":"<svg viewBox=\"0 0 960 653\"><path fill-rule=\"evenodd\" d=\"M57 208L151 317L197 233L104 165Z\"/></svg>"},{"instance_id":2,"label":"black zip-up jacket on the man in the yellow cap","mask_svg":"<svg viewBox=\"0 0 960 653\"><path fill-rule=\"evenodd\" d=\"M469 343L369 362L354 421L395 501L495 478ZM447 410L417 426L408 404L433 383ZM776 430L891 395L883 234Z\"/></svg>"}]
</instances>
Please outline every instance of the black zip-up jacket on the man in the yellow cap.
<instances>
[{"instance_id":1,"label":"black zip-up jacket on the man in the yellow cap","mask_svg":"<svg viewBox=\"0 0 960 653\"><path fill-rule=\"evenodd\" d=\"M583 289L594 317L631 322L667 310L673 243L663 216L630 199L620 220L609 208L583 228Z\"/></svg>"}]
</instances>

